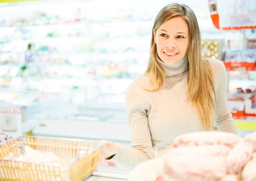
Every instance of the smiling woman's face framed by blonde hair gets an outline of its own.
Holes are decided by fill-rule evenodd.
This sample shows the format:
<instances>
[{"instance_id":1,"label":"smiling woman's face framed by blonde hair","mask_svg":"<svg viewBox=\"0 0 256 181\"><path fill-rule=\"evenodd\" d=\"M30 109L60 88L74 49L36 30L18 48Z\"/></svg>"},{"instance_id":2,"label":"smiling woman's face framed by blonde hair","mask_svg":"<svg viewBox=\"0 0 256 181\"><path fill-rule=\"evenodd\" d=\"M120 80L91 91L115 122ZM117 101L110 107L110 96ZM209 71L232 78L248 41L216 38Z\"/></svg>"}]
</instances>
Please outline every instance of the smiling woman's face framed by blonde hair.
<instances>
[{"instance_id":1,"label":"smiling woman's face framed by blonde hair","mask_svg":"<svg viewBox=\"0 0 256 181\"><path fill-rule=\"evenodd\" d=\"M189 43L189 27L182 17L174 17L153 29L157 54L167 65L173 65L186 55Z\"/></svg>"}]
</instances>

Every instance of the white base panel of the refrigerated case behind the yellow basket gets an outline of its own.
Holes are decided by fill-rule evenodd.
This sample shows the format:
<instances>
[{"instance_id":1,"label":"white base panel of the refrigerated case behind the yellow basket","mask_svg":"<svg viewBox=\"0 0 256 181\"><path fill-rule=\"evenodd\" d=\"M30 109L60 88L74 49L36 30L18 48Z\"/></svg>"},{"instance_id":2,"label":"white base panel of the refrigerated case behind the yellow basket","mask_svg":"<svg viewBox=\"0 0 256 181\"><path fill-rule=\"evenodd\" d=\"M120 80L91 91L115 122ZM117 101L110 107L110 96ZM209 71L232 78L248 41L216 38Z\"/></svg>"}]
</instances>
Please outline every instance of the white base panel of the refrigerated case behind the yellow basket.
<instances>
[{"instance_id":1,"label":"white base panel of the refrigerated case behind the yellow basket","mask_svg":"<svg viewBox=\"0 0 256 181\"><path fill-rule=\"evenodd\" d=\"M96 121L93 118L87 118L86 120L37 118L33 134L37 136L48 135L81 139L105 139L117 142L131 141L131 132L128 123Z\"/></svg>"}]
</instances>

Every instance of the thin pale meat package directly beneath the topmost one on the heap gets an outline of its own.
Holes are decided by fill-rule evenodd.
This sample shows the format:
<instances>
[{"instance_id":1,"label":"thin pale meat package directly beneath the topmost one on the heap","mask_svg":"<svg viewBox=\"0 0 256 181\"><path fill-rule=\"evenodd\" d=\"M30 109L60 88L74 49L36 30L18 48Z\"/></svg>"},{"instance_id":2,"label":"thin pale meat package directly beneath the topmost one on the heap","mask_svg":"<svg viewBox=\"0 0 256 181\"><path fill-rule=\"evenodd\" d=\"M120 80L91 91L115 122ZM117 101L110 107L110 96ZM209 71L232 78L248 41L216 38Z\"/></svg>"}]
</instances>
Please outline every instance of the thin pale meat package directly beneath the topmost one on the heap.
<instances>
[{"instance_id":1,"label":"thin pale meat package directly beneath the topmost one on the heap","mask_svg":"<svg viewBox=\"0 0 256 181\"><path fill-rule=\"evenodd\" d=\"M171 148L163 157L171 156L227 156L231 148L224 145L201 145Z\"/></svg>"}]
</instances>

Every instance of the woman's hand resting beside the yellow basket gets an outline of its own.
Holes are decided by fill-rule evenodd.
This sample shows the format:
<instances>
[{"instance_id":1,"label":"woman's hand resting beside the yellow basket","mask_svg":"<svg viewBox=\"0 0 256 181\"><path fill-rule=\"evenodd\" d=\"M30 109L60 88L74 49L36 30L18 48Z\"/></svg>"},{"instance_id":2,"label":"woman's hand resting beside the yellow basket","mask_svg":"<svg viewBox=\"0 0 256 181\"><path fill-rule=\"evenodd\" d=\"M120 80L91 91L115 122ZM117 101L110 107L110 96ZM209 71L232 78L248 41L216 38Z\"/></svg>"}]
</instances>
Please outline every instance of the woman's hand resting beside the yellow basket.
<instances>
[{"instance_id":1,"label":"woman's hand resting beside the yellow basket","mask_svg":"<svg viewBox=\"0 0 256 181\"><path fill-rule=\"evenodd\" d=\"M102 140L101 142L104 143L104 145L100 149L99 164L108 166L106 159L118 153L120 147L119 144L113 141Z\"/></svg>"}]
</instances>

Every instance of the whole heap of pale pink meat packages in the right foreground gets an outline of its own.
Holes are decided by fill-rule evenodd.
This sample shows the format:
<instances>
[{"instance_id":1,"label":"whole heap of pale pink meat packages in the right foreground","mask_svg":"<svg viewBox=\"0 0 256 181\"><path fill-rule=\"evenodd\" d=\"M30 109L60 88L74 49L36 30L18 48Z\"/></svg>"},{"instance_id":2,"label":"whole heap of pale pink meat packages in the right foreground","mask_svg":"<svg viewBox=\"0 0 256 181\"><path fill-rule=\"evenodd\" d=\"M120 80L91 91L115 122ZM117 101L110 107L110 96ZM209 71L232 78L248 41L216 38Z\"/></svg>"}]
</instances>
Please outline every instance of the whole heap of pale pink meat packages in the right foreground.
<instances>
[{"instance_id":1,"label":"whole heap of pale pink meat packages in the right foreground","mask_svg":"<svg viewBox=\"0 0 256 181\"><path fill-rule=\"evenodd\" d=\"M195 140L195 143L201 144L179 144L178 147L170 147L164 156L137 165L129 174L128 180L164 181L168 178L167 180L173 181L252 181L256 179L256 173L253 172L253 166L256 163L253 157L256 154L253 150L256 146L255 133L247 134L250 139L223 132L198 132L182 135L181 137L188 139L198 135L198 141ZM214 139L212 135L215 135L216 139L209 144L209 138ZM225 145L225 141L222 142L231 135L233 138L238 138L233 147ZM225 154L210 155L209 150L213 147L219 147L218 153L224 149ZM215 152L215 149L213 151ZM146 171L148 174L143 174Z\"/></svg>"}]
</instances>

